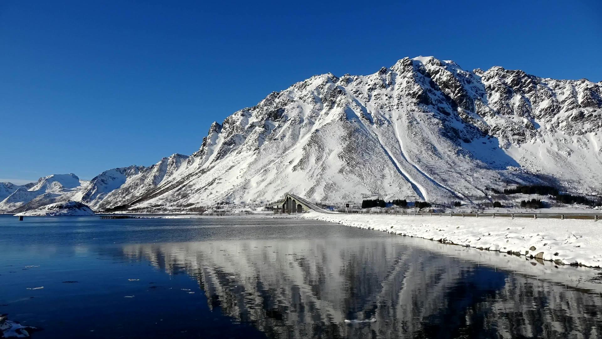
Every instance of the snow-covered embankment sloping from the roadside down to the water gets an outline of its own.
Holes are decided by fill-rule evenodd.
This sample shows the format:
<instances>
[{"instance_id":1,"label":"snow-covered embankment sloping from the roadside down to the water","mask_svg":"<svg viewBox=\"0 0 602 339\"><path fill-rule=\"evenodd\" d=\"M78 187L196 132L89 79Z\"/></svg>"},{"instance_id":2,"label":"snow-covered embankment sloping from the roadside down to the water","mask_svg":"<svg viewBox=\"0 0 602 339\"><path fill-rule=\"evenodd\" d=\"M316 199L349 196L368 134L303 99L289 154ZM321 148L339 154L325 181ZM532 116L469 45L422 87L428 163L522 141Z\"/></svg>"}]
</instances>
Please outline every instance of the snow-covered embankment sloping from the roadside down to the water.
<instances>
[{"instance_id":1,"label":"snow-covered embankment sloping from the roadside down to the water","mask_svg":"<svg viewBox=\"0 0 602 339\"><path fill-rule=\"evenodd\" d=\"M302 218L476 247L556 264L602 267L602 221L322 214Z\"/></svg>"}]
</instances>

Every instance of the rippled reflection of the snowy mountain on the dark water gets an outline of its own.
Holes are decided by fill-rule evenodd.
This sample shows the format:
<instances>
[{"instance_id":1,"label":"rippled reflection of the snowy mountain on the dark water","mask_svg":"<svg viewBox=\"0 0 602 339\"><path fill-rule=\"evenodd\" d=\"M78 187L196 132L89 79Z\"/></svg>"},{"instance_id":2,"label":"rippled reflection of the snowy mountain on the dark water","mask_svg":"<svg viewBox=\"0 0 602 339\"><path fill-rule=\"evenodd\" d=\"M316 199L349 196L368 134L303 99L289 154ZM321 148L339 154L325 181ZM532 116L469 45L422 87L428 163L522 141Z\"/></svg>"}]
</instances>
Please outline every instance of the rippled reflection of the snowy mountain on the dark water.
<instances>
[{"instance_id":1,"label":"rippled reflection of the snowy mountain on the dark water","mask_svg":"<svg viewBox=\"0 0 602 339\"><path fill-rule=\"evenodd\" d=\"M129 244L119 255L193 276L209 308L267 337L602 336L599 291L438 253L421 239L399 239ZM344 322L372 318L376 322Z\"/></svg>"}]
</instances>

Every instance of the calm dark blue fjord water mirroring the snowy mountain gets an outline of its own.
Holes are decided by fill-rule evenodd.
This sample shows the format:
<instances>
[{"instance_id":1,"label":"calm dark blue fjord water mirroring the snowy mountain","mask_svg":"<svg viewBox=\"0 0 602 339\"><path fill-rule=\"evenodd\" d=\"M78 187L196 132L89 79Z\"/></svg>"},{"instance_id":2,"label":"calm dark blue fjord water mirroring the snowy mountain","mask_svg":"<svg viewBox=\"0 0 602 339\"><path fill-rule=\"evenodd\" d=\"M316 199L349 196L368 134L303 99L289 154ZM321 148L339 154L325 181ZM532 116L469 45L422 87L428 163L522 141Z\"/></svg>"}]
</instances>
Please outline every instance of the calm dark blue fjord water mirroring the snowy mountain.
<instances>
[{"instance_id":1,"label":"calm dark blue fjord water mirroring the snowy mountain","mask_svg":"<svg viewBox=\"0 0 602 339\"><path fill-rule=\"evenodd\" d=\"M602 336L553 264L318 221L0 216L0 258L34 338Z\"/></svg>"}]
</instances>

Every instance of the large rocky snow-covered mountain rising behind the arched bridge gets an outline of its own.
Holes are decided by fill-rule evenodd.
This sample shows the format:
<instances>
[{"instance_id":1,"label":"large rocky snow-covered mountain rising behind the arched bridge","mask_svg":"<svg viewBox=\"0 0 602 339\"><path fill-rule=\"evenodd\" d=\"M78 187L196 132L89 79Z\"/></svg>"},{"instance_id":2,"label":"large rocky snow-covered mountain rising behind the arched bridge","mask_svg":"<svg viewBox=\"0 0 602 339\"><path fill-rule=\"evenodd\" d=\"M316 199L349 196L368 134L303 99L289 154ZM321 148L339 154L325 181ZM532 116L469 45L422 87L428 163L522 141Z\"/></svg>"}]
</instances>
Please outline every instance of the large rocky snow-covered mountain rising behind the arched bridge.
<instances>
[{"instance_id":1,"label":"large rocky snow-covered mountain rising behind the arched bridge","mask_svg":"<svg viewBox=\"0 0 602 339\"><path fill-rule=\"evenodd\" d=\"M602 83L405 58L270 93L214 122L191 156L107 171L78 197L97 210L169 210L288 191L331 202L482 200L515 183L602 193L601 108Z\"/></svg>"}]
</instances>

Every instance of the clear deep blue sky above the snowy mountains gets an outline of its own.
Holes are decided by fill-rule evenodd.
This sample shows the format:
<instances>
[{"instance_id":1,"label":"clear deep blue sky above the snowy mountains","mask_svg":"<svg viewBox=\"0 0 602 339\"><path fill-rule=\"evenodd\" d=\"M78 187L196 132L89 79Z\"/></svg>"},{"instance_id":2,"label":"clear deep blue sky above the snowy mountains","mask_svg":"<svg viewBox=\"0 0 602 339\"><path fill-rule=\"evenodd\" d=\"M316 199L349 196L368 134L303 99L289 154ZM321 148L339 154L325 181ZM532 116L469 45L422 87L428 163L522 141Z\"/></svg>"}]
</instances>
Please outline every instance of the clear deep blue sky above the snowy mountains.
<instances>
[{"instance_id":1,"label":"clear deep blue sky above the snowy mountains","mask_svg":"<svg viewBox=\"0 0 602 339\"><path fill-rule=\"evenodd\" d=\"M1 1L0 181L191 154L314 74L405 56L602 80L601 1Z\"/></svg>"}]
</instances>

